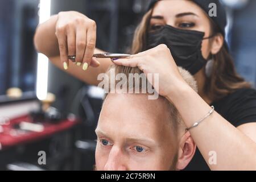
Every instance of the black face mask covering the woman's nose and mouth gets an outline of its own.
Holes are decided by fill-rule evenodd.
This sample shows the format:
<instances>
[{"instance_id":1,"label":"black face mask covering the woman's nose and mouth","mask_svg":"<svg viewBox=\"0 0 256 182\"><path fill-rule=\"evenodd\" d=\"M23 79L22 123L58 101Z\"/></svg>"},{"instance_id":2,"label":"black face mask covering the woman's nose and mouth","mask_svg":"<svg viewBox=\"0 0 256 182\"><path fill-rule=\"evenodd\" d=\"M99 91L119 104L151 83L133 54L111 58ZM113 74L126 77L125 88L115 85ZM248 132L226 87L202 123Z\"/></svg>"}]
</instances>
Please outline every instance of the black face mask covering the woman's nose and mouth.
<instances>
[{"instance_id":1,"label":"black face mask covering the woman's nose and mouth","mask_svg":"<svg viewBox=\"0 0 256 182\"><path fill-rule=\"evenodd\" d=\"M204 32L180 30L166 25L148 33L147 49L166 44L177 66L195 75L207 63L201 52L201 44L202 40L209 38L204 38Z\"/></svg>"}]
</instances>

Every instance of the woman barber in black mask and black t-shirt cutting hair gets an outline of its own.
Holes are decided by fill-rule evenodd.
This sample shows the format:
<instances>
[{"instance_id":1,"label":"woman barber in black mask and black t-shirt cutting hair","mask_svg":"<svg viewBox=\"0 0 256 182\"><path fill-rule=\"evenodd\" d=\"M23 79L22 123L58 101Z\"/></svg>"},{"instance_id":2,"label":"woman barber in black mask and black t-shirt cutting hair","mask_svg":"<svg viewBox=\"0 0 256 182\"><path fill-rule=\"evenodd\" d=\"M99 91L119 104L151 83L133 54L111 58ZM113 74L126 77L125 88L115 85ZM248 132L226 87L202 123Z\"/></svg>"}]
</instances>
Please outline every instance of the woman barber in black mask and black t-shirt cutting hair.
<instances>
[{"instance_id":1,"label":"woman barber in black mask and black t-shirt cutting hair","mask_svg":"<svg viewBox=\"0 0 256 182\"><path fill-rule=\"evenodd\" d=\"M209 15L210 3L217 6L217 16ZM256 91L234 69L225 26L225 10L217 0L152 1L135 32L133 55L114 60L159 73L159 94L177 107L188 128L185 134L199 149L187 169L256 170ZM96 23L75 11L52 16L35 35L39 52L93 85L112 64L92 57L103 52L95 45ZM76 55L76 64L68 55ZM198 94L177 66L195 77Z\"/></svg>"}]
</instances>

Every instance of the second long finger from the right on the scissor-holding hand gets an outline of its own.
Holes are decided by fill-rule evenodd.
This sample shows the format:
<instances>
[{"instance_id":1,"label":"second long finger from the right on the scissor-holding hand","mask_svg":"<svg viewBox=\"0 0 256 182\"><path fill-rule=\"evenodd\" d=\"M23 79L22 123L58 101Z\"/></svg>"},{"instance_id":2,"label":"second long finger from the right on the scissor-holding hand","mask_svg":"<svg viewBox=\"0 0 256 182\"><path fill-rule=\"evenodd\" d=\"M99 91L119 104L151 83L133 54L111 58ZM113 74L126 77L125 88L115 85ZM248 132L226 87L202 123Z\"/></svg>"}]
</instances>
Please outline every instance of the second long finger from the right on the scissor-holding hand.
<instances>
[{"instance_id":1,"label":"second long finger from the right on the scissor-holding hand","mask_svg":"<svg viewBox=\"0 0 256 182\"><path fill-rule=\"evenodd\" d=\"M84 26L77 27L76 31L76 64L80 66L84 58L86 48L86 28Z\"/></svg>"}]
</instances>

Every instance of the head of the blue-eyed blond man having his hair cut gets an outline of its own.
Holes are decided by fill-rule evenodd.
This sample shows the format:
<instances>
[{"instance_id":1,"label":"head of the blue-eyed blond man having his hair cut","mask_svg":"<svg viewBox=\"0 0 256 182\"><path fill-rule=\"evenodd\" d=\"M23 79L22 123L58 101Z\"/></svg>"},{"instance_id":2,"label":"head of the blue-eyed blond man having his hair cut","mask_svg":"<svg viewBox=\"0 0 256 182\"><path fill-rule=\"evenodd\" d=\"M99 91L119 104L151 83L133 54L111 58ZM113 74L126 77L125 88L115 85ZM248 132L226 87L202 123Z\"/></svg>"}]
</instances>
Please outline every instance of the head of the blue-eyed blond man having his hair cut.
<instances>
[{"instance_id":1,"label":"head of the blue-eyed blond man having his hair cut","mask_svg":"<svg viewBox=\"0 0 256 182\"><path fill-rule=\"evenodd\" d=\"M115 73L141 73L114 66ZM184 79L196 89L187 71ZM164 97L113 93L105 97L96 134L98 170L179 170L195 154L195 143L174 105Z\"/></svg>"}]
</instances>

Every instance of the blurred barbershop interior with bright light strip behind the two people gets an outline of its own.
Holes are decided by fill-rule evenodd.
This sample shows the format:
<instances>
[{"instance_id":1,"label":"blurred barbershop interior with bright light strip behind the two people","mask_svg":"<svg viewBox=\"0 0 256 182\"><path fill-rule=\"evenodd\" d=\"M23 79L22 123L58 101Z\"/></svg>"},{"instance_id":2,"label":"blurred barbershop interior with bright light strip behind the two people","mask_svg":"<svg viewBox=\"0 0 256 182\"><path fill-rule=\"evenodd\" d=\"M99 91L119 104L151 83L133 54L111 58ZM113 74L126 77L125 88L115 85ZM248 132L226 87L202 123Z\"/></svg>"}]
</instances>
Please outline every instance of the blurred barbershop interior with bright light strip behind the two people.
<instances>
[{"instance_id":1,"label":"blurred barbershop interior with bright light strip behind the two people","mask_svg":"<svg viewBox=\"0 0 256 182\"><path fill-rule=\"evenodd\" d=\"M256 1L222 0L237 71L256 84ZM75 10L97 23L97 47L129 52L149 0L0 0L0 169L92 170L103 92L38 54L38 23ZM46 94L48 93L48 94ZM46 164L40 164L40 151ZM42 161L41 161L42 162Z\"/></svg>"}]
</instances>

